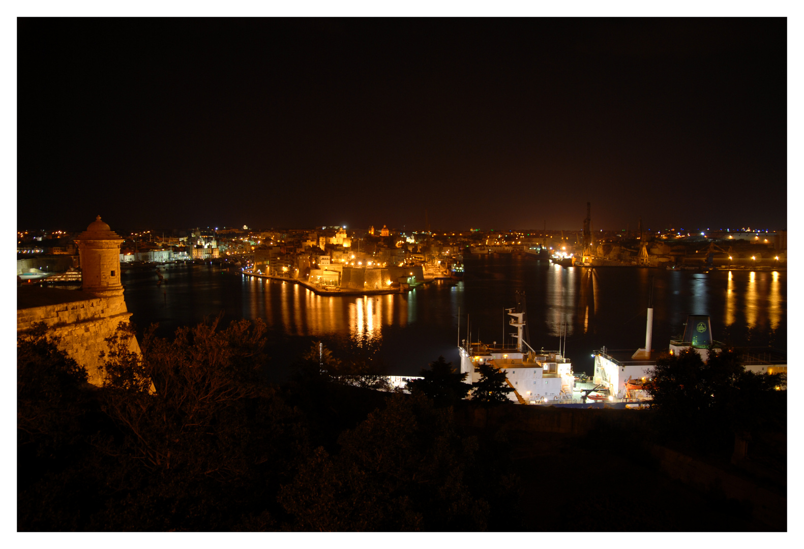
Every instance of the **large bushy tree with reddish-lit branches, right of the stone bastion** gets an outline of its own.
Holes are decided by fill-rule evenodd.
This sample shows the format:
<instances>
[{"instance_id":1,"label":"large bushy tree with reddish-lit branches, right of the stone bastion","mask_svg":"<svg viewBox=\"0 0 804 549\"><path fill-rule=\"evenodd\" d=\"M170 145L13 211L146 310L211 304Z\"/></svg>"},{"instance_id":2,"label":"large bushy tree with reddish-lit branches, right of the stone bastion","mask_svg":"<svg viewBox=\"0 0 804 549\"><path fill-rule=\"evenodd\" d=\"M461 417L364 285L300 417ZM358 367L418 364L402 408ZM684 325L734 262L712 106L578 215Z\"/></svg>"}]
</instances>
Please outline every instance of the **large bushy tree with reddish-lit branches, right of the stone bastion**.
<instances>
[{"instance_id":1,"label":"large bushy tree with reddish-lit branches, right of the stone bastion","mask_svg":"<svg viewBox=\"0 0 804 549\"><path fill-rule=\"evenodd\" d=\"M142 356L129 352L129 332L110 338L98 398L116 432L96 441L112 465L92 529L228 530L270 516L265 502L306 456L306 434L281 395L256 383L265 326L216 328L180 328L173 342L149 330Z\"/></svg>"}]
</instances>

